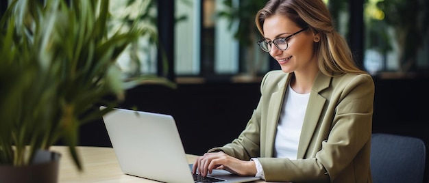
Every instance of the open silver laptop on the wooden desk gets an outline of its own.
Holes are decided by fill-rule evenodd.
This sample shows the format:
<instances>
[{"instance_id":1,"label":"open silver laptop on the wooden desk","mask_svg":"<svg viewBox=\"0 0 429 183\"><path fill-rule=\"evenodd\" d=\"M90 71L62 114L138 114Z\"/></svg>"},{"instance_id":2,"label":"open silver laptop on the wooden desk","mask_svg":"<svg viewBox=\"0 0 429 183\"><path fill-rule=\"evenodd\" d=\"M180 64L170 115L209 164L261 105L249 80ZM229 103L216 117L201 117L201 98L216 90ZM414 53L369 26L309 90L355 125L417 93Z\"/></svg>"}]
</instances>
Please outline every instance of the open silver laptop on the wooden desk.
<instances>
[{"instance_id":1,"label":"open silver laptop on the wooden desk","mask_svg":"<svg viewBox=\"0 0 429 183\"><path fill-rule=\"evenodd\" d=\"M204 182L193 178L171 115L114 108L103 115L103 121L123 173L159 182ZM260 180L225 170L213 170L205 179L225 183Z\"/></svg>"}]
</instances>

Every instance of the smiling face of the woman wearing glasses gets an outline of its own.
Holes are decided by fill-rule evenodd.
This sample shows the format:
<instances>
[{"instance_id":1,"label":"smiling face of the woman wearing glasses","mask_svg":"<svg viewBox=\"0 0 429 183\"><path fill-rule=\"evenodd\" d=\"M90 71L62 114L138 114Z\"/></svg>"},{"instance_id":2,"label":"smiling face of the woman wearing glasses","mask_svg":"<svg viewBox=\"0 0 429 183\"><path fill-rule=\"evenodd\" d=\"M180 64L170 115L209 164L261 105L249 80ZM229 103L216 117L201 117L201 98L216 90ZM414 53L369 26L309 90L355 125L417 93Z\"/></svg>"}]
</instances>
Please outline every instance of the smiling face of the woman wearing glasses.
<instances>
[{"instance_id":1,"label":"smiling face of the woman wearing glasses","mask_svg":"<svg viewBox=\"0 0 429 183\"><path fill-rule=\"evenodd\" d=\"M263 25L264 37L268 42L275 38L286 38L302 30L286 16L274 15L265 19ZM283 72L307 72L317 68L314 43L319 41L319 35L305 29L287 40L288 47L282 51L271 44L269 54L278 61ZM280 45L279 45L280 46Z\"/></svg>"}]
</instances>

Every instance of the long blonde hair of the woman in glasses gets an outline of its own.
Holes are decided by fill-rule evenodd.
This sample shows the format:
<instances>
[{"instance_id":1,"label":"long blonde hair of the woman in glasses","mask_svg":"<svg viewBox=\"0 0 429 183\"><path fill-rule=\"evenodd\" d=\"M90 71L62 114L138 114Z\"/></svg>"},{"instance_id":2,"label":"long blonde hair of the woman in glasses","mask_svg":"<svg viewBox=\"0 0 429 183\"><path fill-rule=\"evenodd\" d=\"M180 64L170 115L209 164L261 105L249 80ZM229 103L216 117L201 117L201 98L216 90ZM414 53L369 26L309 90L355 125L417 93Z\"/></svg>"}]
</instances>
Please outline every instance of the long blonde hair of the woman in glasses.
<instances>
[{"instance_id":1,"label":"long blonde hair of the woman in glasses","mask_svg":"<svg viewBox=\"0 0 429 183\"><path fill-rule=\"evenodd\" d=\"M316 45L317 64L323 74L333 76L345 73L365 73L356 66L352 51L332 23L330 12L321 0L270 0L256 14L258 30L262 29L265 18L280 14L290 18L299 27L310 27L319 33L320 41Z\"/></svg>"}]
</instances>

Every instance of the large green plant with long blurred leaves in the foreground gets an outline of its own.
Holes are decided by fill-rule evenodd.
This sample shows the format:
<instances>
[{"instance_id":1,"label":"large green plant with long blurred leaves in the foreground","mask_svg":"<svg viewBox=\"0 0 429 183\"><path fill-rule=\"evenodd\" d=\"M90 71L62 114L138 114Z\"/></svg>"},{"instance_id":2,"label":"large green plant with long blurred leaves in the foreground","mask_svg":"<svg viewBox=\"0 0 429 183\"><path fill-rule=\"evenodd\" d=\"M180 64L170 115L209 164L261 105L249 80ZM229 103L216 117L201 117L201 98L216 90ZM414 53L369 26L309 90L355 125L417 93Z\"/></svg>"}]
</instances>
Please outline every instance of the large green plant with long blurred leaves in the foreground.
<instances>
[{"instance_id":1,"label":"large green plant with long blurred leaves in the foreground","mask_svg":"<svg viewBox=\"0 0 429 183\"><path fill-rule=\"evenodd\" d=\"M37 156L51 154L49 147L59 140L82 169L75 150L79 126L115 107L125 97L125 86L147 80L171 84L145 76L124 85L117 57L139 36L156 38L156 33L134 26L110 35L108 19L108 0L10 1L0 19L2 171L44 164ZM101 104L108 108L99 111ZM59 156L54 157L58 167ZM2 171L0 182L44 181L34 180L42 174L34 169L32 175ZM48 182L57 180L58 169L53 171Z\"/></svg>"}]
</instances>

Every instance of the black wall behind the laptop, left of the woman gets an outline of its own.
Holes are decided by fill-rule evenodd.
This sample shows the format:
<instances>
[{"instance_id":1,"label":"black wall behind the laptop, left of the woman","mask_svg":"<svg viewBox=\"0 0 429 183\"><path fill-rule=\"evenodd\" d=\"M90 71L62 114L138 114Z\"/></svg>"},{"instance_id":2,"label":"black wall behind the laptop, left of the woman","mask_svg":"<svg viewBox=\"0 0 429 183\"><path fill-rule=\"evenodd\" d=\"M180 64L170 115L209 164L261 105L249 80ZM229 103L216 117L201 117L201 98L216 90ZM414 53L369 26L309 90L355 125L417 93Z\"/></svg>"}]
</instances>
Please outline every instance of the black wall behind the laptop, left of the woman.
<instances>
[{"instance_id":1,"label":"black wall behind the laptop, left of the woman","mask_svg":"<svg viewBox=\"0 0 429 183\"><path fill-rule=\"evenodd\" d=\"M183 84L177 89L140 85L126 96L119 107L173 115L186 152L202 154L238 136L260 90L259 83ZM102 120L82 126L80 139L80 145L111 145Z\"/></svg>"}]
</instances>

